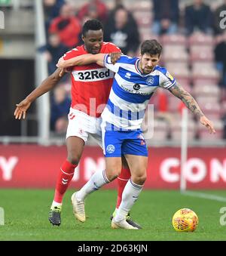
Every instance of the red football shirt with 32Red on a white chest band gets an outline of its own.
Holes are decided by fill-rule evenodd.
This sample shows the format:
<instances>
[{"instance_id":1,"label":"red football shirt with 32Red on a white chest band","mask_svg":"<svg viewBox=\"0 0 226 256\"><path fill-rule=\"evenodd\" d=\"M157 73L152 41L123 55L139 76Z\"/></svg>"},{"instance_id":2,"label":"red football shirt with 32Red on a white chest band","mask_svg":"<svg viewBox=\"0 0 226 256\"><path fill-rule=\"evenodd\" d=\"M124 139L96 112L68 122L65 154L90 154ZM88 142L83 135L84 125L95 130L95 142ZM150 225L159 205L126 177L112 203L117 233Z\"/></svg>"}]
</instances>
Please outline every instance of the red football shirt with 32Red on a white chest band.
<instances>
[{"instance_id":1,"label":"red football shirt with 32Red on a white chest band","mask_svg":"<svg viewBox=\"0 0 226 256\"><path fill-rule=\"evenodd\" d=\"M103 42L100 53L120 51L116 45ZM63 58L69 60L82 54L87 54L84 45L67 52ZM107 103L114 75L114 72L96 63L72 66L72 108L79 109L89 116L99 117Z\"/></svg>"}]
</instances>

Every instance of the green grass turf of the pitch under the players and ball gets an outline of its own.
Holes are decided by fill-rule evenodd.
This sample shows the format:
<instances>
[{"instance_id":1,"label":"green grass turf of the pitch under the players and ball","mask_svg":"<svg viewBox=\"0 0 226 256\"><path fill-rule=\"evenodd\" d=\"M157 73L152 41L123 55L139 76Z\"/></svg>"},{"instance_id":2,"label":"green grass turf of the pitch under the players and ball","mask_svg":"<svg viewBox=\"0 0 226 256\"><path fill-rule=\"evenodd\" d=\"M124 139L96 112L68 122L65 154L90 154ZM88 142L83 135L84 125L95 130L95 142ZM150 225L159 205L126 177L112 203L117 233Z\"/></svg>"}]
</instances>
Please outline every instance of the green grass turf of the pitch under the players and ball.
<instances>
[{"instance_id":1,"label":"green grass turf of the pitch under the players and ball","mask_svg":"<svg viewBox=\"0 0 226 256\"><path fill-rule=\"evenodd\" d=\"M212 193L226 198L226 191ZM48 211L53 190L0 190L0 207L5 210L5 225L0 226L0 241L226 240L226 226L221 226L219 213L226 202L184 196L175 190L144 190L131 212L133 219L142 224L143 229L112 230L109 217L115 208L115 190L100 190L87 198L87 221L84 224L75 221L71 194L72 190L68 190L64 199L61 226L52 227L48 221ZM200 223L194 233L173 230L171 219L179 208L196 211Z\"/></svg>"}]
</instances>

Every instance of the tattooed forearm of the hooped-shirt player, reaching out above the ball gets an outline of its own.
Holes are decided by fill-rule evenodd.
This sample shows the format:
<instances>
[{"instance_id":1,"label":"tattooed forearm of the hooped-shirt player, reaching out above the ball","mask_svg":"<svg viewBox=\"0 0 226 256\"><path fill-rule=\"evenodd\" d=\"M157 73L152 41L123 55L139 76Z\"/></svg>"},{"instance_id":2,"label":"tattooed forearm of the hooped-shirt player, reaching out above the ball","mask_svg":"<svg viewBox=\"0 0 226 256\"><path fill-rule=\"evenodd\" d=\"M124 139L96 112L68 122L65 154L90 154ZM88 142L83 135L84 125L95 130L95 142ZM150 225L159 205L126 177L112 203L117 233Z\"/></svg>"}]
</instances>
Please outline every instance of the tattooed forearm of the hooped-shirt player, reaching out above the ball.
<instances>
[{"instance_id":1,"label":"tattooed forearm of the hooped-shirt player, reaching out above the ball","mask_svg":"<svg viewBox=\"0 0 226 256\"><path fill-rule=\"evenodd\" d=\"M185 89L182 88L182 86L179 85L179 83L177 82L176 85L173 85L173 87L169 90L174 96L182 100L182 102L185 103L188 109L190 109L191 112L200 119L201 124L205 125L206 128L209 129L209 133L215 133L212 122L206 118L206 116L201 111L200 106L198 106L196 100L194 100L194 97L192 97L188 91L185 91Z\"/></svg>"}]
</instances>

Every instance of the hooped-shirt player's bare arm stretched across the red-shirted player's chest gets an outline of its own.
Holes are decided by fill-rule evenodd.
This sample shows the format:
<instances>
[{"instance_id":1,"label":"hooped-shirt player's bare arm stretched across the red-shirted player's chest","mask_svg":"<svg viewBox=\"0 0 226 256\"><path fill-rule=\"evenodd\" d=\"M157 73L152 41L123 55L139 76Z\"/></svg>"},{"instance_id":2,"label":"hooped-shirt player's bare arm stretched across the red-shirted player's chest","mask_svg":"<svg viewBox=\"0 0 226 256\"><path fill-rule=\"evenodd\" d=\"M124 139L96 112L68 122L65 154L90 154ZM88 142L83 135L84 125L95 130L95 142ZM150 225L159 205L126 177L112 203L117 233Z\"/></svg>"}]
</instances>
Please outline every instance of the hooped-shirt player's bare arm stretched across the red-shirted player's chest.
<instances>
[{"instance_id":1,"label":"hooped-shirt player's bare arm stretched across the red-shirted player's chest","mask_svg":"<svg viewBox=\"0 0 226 256\"><path fill-rule=\"evenodd\" d=\"M60 68L66 68L69 66L83 66L90 63L96 63L99 66L104 66L104 57L105 54L84 54L73 57L69 60L63 60L63 57L61 57L56 66Z\"/></svg>"}]
</instances>

